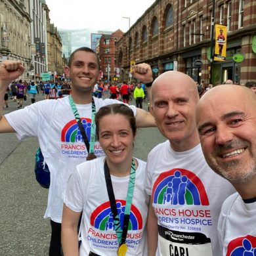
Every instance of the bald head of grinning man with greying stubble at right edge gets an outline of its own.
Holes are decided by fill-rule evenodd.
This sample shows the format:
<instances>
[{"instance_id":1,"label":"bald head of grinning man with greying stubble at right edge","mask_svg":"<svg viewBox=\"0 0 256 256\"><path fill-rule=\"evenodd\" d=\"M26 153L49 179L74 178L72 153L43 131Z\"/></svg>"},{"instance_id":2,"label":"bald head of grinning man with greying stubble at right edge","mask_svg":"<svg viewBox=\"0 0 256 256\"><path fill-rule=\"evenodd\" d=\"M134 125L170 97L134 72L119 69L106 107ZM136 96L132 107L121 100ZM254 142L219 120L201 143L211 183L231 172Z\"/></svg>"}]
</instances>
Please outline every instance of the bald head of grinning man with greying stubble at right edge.
<instances>
[{"instance_id":1,"label":"bald head of grinning man with greying stubble at right edge","mask_svg":"<svg viewBox=\"0 0 256 256\"><path fill-rule=\"evenodd\" d=\"M220 85L205 94L196 110L203 154L230 182L256 177L256 98L239 85Z\"/></svg>"}]
</instances>

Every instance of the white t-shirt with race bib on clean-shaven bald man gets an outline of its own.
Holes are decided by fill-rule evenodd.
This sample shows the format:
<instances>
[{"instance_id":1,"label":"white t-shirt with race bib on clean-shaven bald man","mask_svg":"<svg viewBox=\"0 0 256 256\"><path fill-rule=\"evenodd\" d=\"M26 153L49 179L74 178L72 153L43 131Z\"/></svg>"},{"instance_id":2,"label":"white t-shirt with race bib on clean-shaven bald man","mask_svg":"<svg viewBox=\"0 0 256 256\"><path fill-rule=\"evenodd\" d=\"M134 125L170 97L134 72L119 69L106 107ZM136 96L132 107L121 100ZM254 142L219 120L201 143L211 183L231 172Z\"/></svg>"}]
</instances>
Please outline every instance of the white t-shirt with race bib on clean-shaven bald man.
<instances>
[{"instance_id":1,"label":"white t-shirt with race bib on clean-shaven bald man","mask_svg":"<svg viewBox=\"0 0 256 256\"><path fill-rule=\"evenodd\" d=\"M156 146L148 155L146 192L158 218L156 255L221 255L217 223L234 188L209 168L200 144L185 152L173 151L169 140Z\"/></svg>"}]
</instances>

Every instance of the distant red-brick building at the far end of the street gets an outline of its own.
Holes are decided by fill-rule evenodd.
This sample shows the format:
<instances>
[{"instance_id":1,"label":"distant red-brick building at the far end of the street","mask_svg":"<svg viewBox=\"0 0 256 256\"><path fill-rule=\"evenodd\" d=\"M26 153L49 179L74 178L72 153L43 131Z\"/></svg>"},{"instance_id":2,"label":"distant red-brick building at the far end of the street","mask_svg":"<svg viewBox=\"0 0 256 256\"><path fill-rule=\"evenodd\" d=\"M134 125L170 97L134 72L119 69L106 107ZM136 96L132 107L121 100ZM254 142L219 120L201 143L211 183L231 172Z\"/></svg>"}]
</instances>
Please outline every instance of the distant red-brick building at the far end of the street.
<instances>
[{"instance_id":1,"label":"distant red-brick building at the far end of the street","mask_svg":"<svg viewBox=\"0 0 256 256\"><path fill-rule=\"evenodd\" d=\"M122 35L121 30L116 30L111 35L103 34L100 37L99 58L104 80L114 80L114 75L116 75L116 43Z\"/></svg>"}]
</instances>

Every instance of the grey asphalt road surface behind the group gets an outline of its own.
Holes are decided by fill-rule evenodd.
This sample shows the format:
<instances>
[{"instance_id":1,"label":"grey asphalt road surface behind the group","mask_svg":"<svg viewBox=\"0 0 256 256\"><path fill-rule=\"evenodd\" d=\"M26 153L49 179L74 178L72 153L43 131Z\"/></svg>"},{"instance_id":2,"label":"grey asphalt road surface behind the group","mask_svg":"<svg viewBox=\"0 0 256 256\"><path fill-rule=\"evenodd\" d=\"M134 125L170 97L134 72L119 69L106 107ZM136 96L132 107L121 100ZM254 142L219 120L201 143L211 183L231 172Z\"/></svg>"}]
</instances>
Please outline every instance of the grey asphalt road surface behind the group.
<instances>
[{"instance_id":1,"label":"grey asphalt road surface behind the group","mask_svg":"<svg viewBox=\"0 0 256 256\"><path fill-rule=\"evenodd\" d=\"M28 104L29 97L24 106ZM16 109L17 104L9 100L4 114ZM134 156L146 161L148 152L164 140L156 128L139 129ZM48 255L51 228L49 219L43 219L48 190L37 184L33 173L37 139L20 142L14 134L1 134L0 145L0 254Z\"/></svg>"}]
</instances>

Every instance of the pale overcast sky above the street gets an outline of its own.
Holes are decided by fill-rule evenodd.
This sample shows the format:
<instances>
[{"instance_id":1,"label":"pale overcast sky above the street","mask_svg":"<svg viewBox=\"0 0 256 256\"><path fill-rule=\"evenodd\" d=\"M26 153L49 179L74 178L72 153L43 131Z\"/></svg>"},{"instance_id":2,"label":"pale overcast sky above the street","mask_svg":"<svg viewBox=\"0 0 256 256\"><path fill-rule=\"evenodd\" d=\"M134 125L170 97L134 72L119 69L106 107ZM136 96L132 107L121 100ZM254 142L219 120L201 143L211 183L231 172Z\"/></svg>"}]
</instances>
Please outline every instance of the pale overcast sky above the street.
<instances>
[{"instance_id":1,"label":"pale overcast sky above the street","mask_svg":"<svg viewBox=\"0 0 256 256\"><path fill-rule=\"evenodd\" d=\"M72 51L91 47L91 33L127 32L129 17L131 26L144 14L155 0L46 0L50 9L51 23L58 30L72 32Z\"/></svg>"}]
</instances>

